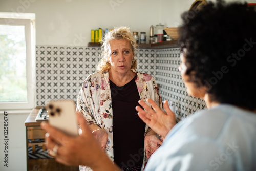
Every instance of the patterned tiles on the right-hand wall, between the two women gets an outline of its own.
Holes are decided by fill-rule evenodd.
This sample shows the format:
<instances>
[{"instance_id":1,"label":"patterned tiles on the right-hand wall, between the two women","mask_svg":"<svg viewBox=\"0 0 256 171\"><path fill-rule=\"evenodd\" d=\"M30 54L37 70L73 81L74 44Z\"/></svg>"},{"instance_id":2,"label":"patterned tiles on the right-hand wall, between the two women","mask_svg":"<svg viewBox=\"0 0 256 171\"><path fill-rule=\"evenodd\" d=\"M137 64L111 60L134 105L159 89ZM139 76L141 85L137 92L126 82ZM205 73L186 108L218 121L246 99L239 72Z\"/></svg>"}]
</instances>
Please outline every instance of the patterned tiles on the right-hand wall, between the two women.
<instances>
[{"instance_id":1,"label":"patterned tiles on the right-hand wall, between the two women","mask_svg":"<svg viewBox=\"0 0 256 171\"><path fill-rule=\"evenodd\" d=\"M156 80L160 84L163 100L168 100L174 107L178 120L205 108L205 102L187 94L178 67L180 65L180 49L157 50Z\"/></svg>"}]
</instances>

